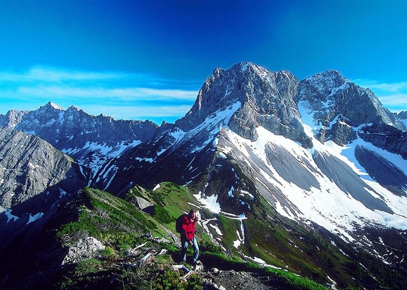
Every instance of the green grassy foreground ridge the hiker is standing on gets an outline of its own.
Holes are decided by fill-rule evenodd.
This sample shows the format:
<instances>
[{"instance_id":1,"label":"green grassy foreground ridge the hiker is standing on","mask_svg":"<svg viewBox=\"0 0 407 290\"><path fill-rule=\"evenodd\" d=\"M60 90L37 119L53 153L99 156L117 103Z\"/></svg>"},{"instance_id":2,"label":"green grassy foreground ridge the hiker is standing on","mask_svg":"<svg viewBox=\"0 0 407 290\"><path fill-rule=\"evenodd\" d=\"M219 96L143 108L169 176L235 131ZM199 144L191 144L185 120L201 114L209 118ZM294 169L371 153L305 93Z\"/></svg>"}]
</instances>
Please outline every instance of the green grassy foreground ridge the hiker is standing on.
<instances>
[{"instance_id":1,"label":"green grassy foreground ridge the hiker is standing on","mask_svg":"<svg viewBox=\"0 0 407 290\"><path fill-rule=\"evenodd\" d=\"M193 208L193 204L196 204L185 187L164 182L154 191L140 187L131 190L127 196L128 200L134 196L141 196L154 201L159 206L159 211L155 211L154 215L143 213L131 202L114 197L102 190L85 188L84 194L89 199L90 206L81 206L78 219L63 225L57 233L57 237L68 241L68 244L73 244L82 236L94 236L109 246L99 257L79 262L75 269L60 281L59 286L61 288L98 287L111 279L112 275L117 276L117 281L120 282L117 285L118 288L159 289L161 286L163 289L201 288L198 277L193 277L189 284L182 282L179 275L169 271L169 265L176 263L175 257L178 256L179 248L174 244L156 244L142 237L142 234L146 232L152 232L155 237L165 237L168 230L175 233L173 218ZM219 228L223 233L224 245L231 247L233 242L237 240L236 231L240 231L240 221L221 214L214 215L207 210L201 210L201 214L207 218L217 217ZM169 220L168 223L163 222L163 216L169 216L172 220ZM245 227L248 231L250 231L251 219L250 217L245 220ZM258 228L260 225L256 222L253 223L253 227ZM278 281L281 283L288 284L294 289L326 289L308 278L299 277L283 270L259 267L256 264L244 262L236 254L226 253L219 246L212 244L209 236L202 230L197 229L197 236L200 240L201 260L207 266L273 276L280 279ZM155 261L149 266L150 268L143 270L118 269L114 266L127 261L126 249L143 243L146 243L143 248L157 248L159 250L164 247L168 250L168 254L160 257L159 261ZM255 249L254 245L250 244ZM263 244L258 245L258 249L255 249L257 256L264 246ZM276 264L278 261L274 262ZM160 285L160 287L153 287L153 282L154 285Z\"/></svg>"}]
</instances>

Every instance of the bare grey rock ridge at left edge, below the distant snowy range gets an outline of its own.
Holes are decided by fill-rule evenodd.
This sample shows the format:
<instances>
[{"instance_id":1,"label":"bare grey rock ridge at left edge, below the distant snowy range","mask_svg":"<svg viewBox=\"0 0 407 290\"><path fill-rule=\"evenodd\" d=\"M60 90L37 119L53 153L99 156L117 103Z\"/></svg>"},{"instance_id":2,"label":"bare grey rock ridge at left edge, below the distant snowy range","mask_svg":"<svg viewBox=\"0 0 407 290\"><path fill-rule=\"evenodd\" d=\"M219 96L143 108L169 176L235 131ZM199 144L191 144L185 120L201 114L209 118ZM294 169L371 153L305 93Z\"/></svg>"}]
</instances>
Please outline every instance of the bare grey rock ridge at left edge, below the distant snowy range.
<instances>
[{"instance_id":1,"label":"bare grey rock ridge at left edge, below the distant snowy range","mask_svg":"<svg viewBox=\"0 0 407 290\"><path fill-rule=\"evenodd\" d=\"M45 212L83 186L72 158L37 136L0 129L0 206L13 214Z\"/></svg>"}]
</instances>

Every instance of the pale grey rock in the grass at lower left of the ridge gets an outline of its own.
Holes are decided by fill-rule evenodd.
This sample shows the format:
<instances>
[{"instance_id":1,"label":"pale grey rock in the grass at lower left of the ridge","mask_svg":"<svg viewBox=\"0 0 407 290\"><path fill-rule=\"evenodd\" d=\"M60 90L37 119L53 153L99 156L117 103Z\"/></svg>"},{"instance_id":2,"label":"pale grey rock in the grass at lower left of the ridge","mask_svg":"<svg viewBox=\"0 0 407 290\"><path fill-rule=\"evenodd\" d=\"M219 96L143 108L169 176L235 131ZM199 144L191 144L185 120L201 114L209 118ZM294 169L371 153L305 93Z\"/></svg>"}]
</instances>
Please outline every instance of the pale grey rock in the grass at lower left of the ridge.
<instances>
[{"instance_id":1,"label":"pale grey rock in the grass at lower left of the ridge","mask_svg":"<svg viewBox=\"0 0 407 290\"><path fill-rule=\"evenodd\" d=\"M69 252L65 256L62 265L68 263L78 263L83 259L95 257L104 249L105 246L94 237L82 238L76 243L75 246L69 248Z\"/></svg>"}]
</instances>

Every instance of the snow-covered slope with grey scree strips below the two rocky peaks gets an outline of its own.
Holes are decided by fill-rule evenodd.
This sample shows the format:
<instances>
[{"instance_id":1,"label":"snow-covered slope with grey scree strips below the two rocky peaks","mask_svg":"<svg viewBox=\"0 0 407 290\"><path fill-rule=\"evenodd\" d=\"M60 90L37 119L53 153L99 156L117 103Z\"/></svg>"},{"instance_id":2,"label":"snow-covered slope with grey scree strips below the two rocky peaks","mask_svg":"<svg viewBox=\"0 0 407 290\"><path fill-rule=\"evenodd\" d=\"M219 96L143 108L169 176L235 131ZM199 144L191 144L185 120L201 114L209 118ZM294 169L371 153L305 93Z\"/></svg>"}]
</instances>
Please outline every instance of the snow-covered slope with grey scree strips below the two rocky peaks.
<instances>
[{"instance_id":1,"label":"snow-covered slope with grey scree strips below the two rocky peaks","mask_svg":"<svg viewBox=\"0 0 407 290\"><path fill-rule=\"evenodd\" d=\"M219 150L241 160L258 191L283 216L315 222L345 240L366 225L407 229L407 195L397 195L367 175L355 157L363 148L396 167L407 181L407 160L361 139L341 147L313 140L312 149L258 127L256 141L222 130ZM405 186L406 183L403 184ZM404 187L407 188L407 187Z\"/></svg>"}]
</instances>

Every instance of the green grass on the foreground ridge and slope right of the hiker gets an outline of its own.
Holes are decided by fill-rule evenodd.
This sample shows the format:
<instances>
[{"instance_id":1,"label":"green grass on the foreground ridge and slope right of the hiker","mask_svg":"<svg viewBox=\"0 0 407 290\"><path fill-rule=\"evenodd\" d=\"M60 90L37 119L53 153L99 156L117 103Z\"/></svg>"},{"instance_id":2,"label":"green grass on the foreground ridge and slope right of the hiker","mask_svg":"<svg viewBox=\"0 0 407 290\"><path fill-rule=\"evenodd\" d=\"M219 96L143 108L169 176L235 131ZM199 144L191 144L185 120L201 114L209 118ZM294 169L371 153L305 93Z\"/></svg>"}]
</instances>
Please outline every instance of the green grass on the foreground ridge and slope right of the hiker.
<instances>
[{"instance_id":1,"label":"green grass on the foreground ridge and slope right of the hiker","mask_svg":"<svg viewBox=\"0 0 407 290\"><path fill-rule=\"evenodd\" d=\"M110 272L115 271L119 277L118 288L131 288L134 286L139 289L149 289L154 286L157 287L156 285L163 285L163 289L201 288L201 281L198 277L193 277L189 280L190 282L185 283L180 280L177 274L168 270L169 266L174 263L172 256L178 255L180 251L175 244L156 245L147 238L142 237L142 234L148 232L152 232L154 236L165 236L166 231L162 228L163 226L175 233L175 218L189 211L190 208L194 208L190 203L196 204L196 201L184 186L164 182L155 191L144 190L141 187L130 190L127 194L127 199L130 201L135 196L141 196L156 202L153 216L143 213L133 203L114 197L102 190L85 188L84 194L89 199L90 206L81 206L78 219L63 225L57 236L60 238L69 236L72 238L71 241L74 241L75 238L86 234L108 243L108 246L101 253L100 259L85 259L78 263L75 271L65 281L61 282L61 287L75 288L102 283L103 279L107 279L105 272L109 269ZM225 248L235 251L232 245L238 239L236 231L241 231L240 221L221 214L213 214L205 209L200 209L200 211L205 218L216 217L218 219ZM307 270L309 272L305 271L307 273L304 274L311 273L316 275L317 278L321 278L317 275L319 270L315 269L314 265L296 260L296 253L293 253L292 247L289 248L287 245L288 238L293 240L295 238L290 236L292 234L274 225L270 228L268 225L271 223L262 217L264 215L263 211L264 208L253 207L253 213L248 214L248 219L244 220L246 235L250 234L251 239L245 243L247 248L242 247L242 250L246 254L258 256L267 263L281 268L285 267L286 264L283 264L278 256L272 257L270 253L275 251L281 254L280 251L282 251L286 255L283 257L284 262L304 263L299 264L302 269L308 269L307 267L309 267ZM244 262L235 255L236 251L225 253L221 247L214 245L210 241L210 237L199 227L196 229L196 235L199 241L201 259L202 261L205 259L212 261L207 262L209 265L212 263L220 269L256 271L264 275L274 275L284 279L287 284L292 285L294 288L326 289L308 278L298 277L293 273L259 267L254 263ZM316 233L311 235L310 240L324 245L324 241L320 240ZM126 259L124 254L126 249L144 242L147 242L145 247L158 250L166 248L168 254L158 257L150 268L123 268L119 272L117 272L117 269L113 270L113 264ZM192 249L189 247L189 255L191 255L191 252ZM157 274L157 269L161 269L159 274ZM111 274L109 275L111 276Z\"/></svg>"}]
</instances>

